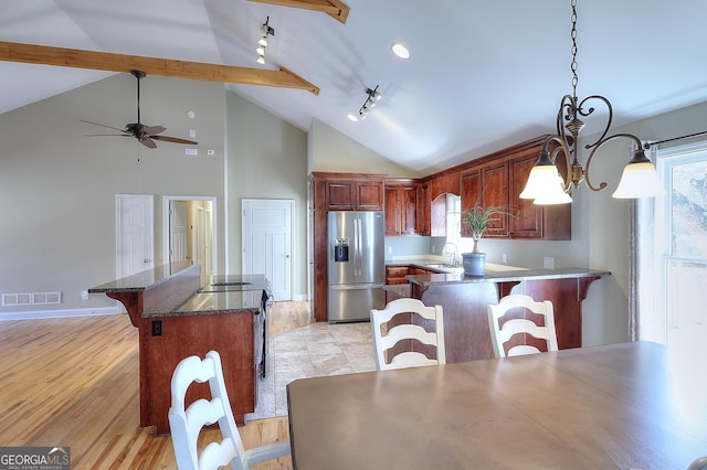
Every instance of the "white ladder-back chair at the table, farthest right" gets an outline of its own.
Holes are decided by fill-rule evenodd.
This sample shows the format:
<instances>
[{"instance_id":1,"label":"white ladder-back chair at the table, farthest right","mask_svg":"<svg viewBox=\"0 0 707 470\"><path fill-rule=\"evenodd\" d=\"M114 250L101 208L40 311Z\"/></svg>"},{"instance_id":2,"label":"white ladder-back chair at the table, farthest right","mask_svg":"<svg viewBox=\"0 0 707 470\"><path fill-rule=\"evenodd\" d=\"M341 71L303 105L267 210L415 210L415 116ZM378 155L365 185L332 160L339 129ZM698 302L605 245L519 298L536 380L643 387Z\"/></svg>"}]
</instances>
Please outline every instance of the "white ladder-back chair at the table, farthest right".
<instances>
[{"instance_id":1,"label":"white ladder-back chair at the table, farthest right","mask_svg":"<svg viewBox=\"0 0 707 470\"><path fill-rule=\"evenodd\" d=\"M524 308L545 318L544 325L538 325L527 318L511 318L500 324L500 320L511 309ZM547 351L557 351L557 332L555 331L555 311L549 300L535 301L532 297L524 293L511 293L498 301L498 305L487 306L488 329L496 357L506 357L541 352L530 344L516 344L506 350L506 343L516 334L529 334L539 340L545 340ZM525 343L525 341L524 341Z\"/></svg>"}]
</instances>

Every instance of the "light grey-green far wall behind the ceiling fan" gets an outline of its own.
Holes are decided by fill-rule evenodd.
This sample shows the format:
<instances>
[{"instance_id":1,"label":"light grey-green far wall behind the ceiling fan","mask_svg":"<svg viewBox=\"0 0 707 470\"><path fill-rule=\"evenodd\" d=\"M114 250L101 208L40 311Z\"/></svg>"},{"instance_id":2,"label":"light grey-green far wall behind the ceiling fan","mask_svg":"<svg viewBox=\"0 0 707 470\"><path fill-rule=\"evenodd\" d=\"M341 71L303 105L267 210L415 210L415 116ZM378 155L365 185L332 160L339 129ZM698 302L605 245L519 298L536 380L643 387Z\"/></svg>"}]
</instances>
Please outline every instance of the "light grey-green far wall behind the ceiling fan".
<instances>
[{"instance_id":1,"label":"light grey-green far wall behind the ceiling fan","mask_svg":"<svg viewBox=\"0 0 707 470\"><path fill-rule=\"evenodd\" d=\"M222 211L224 103L221 84L141 82L143 122L163 125L165 135L175 137L196 129L199 157L186 156L180 145L158 142L150 150L133 138L85 137L119 132L81 119L117 128L136 120L136 81L129 74L0 115L0 292L62 292L62 305L39 310L113 306L105 296L81 300L81 291L116 276L118 193L155 195L155 260L162 264L162 195L215 196ZM207 148L215 156L205 157ZM222 252L222 226L219 239Z\"/></svg>"}]
</instances>

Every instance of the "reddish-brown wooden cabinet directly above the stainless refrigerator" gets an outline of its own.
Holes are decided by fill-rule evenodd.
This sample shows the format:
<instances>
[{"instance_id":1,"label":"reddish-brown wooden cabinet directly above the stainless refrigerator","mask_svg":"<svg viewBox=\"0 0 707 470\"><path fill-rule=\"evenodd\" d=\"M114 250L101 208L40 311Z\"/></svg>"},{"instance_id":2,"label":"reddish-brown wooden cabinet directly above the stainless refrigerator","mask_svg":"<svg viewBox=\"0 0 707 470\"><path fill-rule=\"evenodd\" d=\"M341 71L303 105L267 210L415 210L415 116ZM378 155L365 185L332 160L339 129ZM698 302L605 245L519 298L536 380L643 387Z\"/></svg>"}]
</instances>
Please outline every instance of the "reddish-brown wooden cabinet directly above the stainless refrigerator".
<instances>
[{"instance_id":1,"label":"reddish-brown wooden cabinet directly above the stainless refrigerator","mask_svg":"<svg viewBox=\"0 0 707 470\"><path fill-rule=\"evenodd\" d=\"M382 211L384 175L314 172L315 184L324 183L327 211Z\"/></svg>"}]
</instances>

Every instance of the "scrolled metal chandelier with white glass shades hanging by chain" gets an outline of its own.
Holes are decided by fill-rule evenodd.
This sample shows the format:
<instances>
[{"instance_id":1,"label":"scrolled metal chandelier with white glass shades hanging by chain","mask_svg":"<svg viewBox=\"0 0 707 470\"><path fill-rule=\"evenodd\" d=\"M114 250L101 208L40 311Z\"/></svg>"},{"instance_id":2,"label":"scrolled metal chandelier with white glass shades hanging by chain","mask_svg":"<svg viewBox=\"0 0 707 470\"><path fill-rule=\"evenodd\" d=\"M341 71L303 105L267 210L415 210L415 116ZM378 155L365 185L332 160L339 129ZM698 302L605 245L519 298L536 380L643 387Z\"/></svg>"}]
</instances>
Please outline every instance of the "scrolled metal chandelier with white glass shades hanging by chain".
<instances>
[{"instance_id":1,"label":"scrolled metal chandelier with white glass shades hanging by chain","mask_svg":"<svg viewBox=\"0 0 707 470\"><path fill-rule=\"evenodd\" d=\"M577 97L577 84L579 83L577 74L577 0L572 0L571 6L572 94L562 97L557 113L557 135L548 136L545 139L540 158L530 171L520 197L532 199L535 204L567 204L572 202L570 196L572 188L578 189L582 181L592 191L605 189L605 182L600 183L598 186L592 184L589 178L589 169L597 150L604 143L619 138L632 140L634 148L633 157L623 169L619 186L612 194L613 197L633 199L663 195L665 190L661 185L655 167L644 152L644 147L647 149L648 146L643 146L641 139L631 133L616 133L606 137L613 118L613 109L609 99L601 95L591 95L582 100ZM590 103L594 102L599 102L606 107L606 126L595 142L584 146L585 150L591 151L587 158L587 165L583 167L577 156L579 133L584 127L581 118L594 113L594 108L589 106ZM553 150L550 152L551 147ZM556 164L558 158L564 159L564 174L558 171Z\"/></svg>"}]
</instances>

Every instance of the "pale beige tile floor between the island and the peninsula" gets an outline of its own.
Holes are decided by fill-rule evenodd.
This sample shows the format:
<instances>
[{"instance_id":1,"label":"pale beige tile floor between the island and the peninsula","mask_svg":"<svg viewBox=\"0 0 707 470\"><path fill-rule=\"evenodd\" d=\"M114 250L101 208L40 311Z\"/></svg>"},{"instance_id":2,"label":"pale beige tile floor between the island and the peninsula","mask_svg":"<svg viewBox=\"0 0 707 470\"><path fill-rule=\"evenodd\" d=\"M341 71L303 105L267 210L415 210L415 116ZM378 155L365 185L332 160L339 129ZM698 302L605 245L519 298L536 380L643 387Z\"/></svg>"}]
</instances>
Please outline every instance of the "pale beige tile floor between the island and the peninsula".
<instances>
[{"instance_id":1,"label":"pale beige tile floor between the island and the peninsula","mask_svg":"<svg viewBox=\"0 0 707 470\"><path fill-rule=\"evenodd\" d=\"M317 322L281 334L270 340L267 373L258 384L257 406L245 419L286 416L286 386L297 378L374 370L368 322Z\"/></svg>"}]
</instances>

